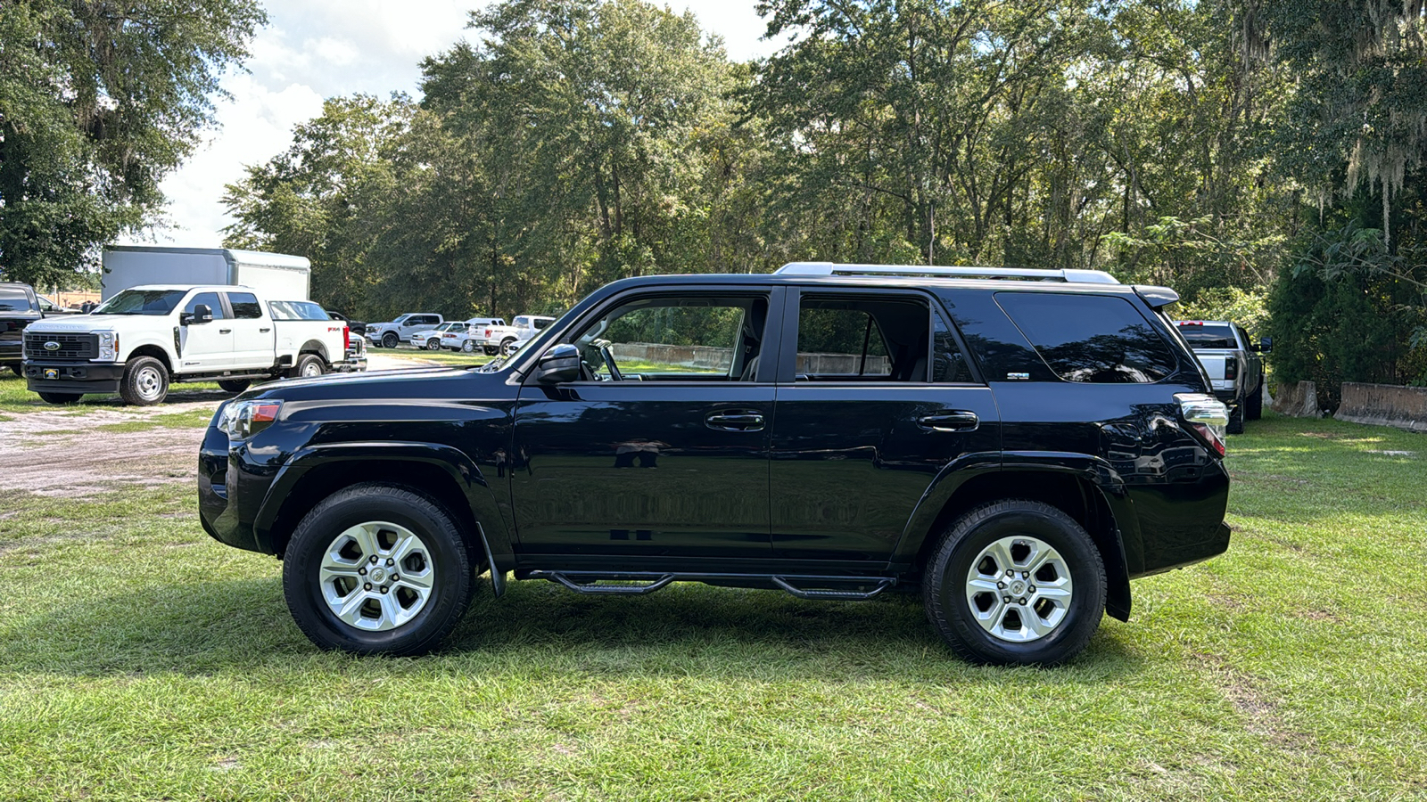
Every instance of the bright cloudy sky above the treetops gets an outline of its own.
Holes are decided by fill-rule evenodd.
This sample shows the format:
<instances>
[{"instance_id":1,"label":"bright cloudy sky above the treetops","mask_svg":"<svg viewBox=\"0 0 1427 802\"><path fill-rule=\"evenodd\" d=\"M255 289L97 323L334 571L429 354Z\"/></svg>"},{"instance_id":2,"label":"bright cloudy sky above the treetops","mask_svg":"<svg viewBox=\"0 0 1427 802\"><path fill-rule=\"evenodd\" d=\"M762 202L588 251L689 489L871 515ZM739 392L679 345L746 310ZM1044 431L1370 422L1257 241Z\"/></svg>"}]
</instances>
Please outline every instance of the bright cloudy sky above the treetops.
<instances>
[{"instance_id":1,"label":"bright cloudy sky above the treetops","mask_svg":"<svg viewBox=\"0 0 1427 802\"><path fill-rule=\"evenodd\" d=\"M420 61L465 39L467 13L488 0L277 0L253 40L247 71L230 73L217 101L218 127L164 183L166 218L128 244L217 247L231 218L223 188L293 143L293 126L321 113L327 97L405 91L420 97ZM768 56L755 0L665 0L694 11L723 39L733 60Z\"/></svg>"}]
</instances>

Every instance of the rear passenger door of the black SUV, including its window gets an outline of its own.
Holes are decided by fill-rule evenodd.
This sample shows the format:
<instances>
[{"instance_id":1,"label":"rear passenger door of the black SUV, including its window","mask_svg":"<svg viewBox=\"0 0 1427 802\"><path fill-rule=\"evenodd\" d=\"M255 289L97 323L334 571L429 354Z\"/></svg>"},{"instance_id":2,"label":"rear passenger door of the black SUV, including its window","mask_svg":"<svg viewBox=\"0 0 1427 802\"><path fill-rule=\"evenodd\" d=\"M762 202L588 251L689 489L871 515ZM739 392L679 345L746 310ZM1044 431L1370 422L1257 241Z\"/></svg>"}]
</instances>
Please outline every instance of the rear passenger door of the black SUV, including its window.
<instances>
[{"instance_id":1,"label":"rear passenger door of the black SUV, including its window","mask_svg":"<svg viewBox=\"0 0 1427 802\"><path fill-rule=\"evenodd\" d=\"M786 304L773 557L886 564L938 474L999 451L996 402L922 293L803 288Z\"/></svg>"}]
</instances>

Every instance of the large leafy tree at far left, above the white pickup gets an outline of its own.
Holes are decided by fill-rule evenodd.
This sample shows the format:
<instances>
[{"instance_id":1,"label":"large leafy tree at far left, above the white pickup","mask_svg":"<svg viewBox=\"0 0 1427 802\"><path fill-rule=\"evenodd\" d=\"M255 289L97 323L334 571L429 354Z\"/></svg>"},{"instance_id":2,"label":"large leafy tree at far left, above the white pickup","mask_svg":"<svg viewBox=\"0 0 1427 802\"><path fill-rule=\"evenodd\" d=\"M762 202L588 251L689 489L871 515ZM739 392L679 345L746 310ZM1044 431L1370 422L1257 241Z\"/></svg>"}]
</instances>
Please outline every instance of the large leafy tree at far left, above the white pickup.
<instances>
[{"instance_id":1,"label":"large leafy tree at far left, above the white pickup","mask_svg":"<svg viewBox=\"0 0 1427 802\"><path fill-rule=\"evenodd\" d=\"M160 210L257 0L0 3L0 270L54 284Z\"/></svg>"}]
</instances>

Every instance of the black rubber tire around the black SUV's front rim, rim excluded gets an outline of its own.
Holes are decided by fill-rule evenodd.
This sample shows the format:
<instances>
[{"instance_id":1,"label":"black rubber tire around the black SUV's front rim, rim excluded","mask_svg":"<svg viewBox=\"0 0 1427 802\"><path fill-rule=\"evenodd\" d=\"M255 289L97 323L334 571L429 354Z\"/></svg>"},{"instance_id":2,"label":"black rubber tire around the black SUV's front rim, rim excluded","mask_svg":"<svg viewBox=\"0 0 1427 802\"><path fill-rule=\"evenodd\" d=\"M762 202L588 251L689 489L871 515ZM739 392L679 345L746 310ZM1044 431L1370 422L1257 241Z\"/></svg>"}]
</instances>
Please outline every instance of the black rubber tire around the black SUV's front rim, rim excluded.
<instances>
[{"instance_id":1,"label":"black rubber tire around the black SUV's front rim, rim excluded","mask_svg":"<svg viewBox=\"0 0 1427 802\"><path fill-rule=\"evenodd\" d=\"M428 599L414 618L388 631L360 629L338 618L318 579L328 548L344 531L364 522L404 527L421 538L431 555ZM358 655L427 654L465 615L474 588L471 555L451 515L430 498L397 485L368 482L327 497L297 525L283 557L283 595L288 611L303 634L321 649Z\"/></svg>"}]
</instances>

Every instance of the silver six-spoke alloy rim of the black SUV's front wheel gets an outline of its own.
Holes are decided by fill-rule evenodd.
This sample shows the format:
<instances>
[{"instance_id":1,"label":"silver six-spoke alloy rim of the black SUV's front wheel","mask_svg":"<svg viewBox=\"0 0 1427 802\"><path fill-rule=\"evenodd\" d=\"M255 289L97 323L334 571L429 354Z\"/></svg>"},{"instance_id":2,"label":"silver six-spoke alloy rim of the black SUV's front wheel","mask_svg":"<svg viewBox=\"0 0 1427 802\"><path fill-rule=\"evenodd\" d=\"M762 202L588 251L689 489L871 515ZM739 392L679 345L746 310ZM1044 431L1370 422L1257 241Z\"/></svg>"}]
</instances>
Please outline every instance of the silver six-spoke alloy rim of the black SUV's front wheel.
<instances>
[{"instance_id":1,"label":"silver six-spoke alloy rim of the black SUV's front wheel","mask_svg":"<svg viewBox=\"0 0 1427 802\"><path fill-rule=\"evenodd\" d=\"M388 632L431 601L431 549L411 529L387 521L357 524L323 552L318 582L337 618L365 632Z\"/></svg>"}]
</instances>

